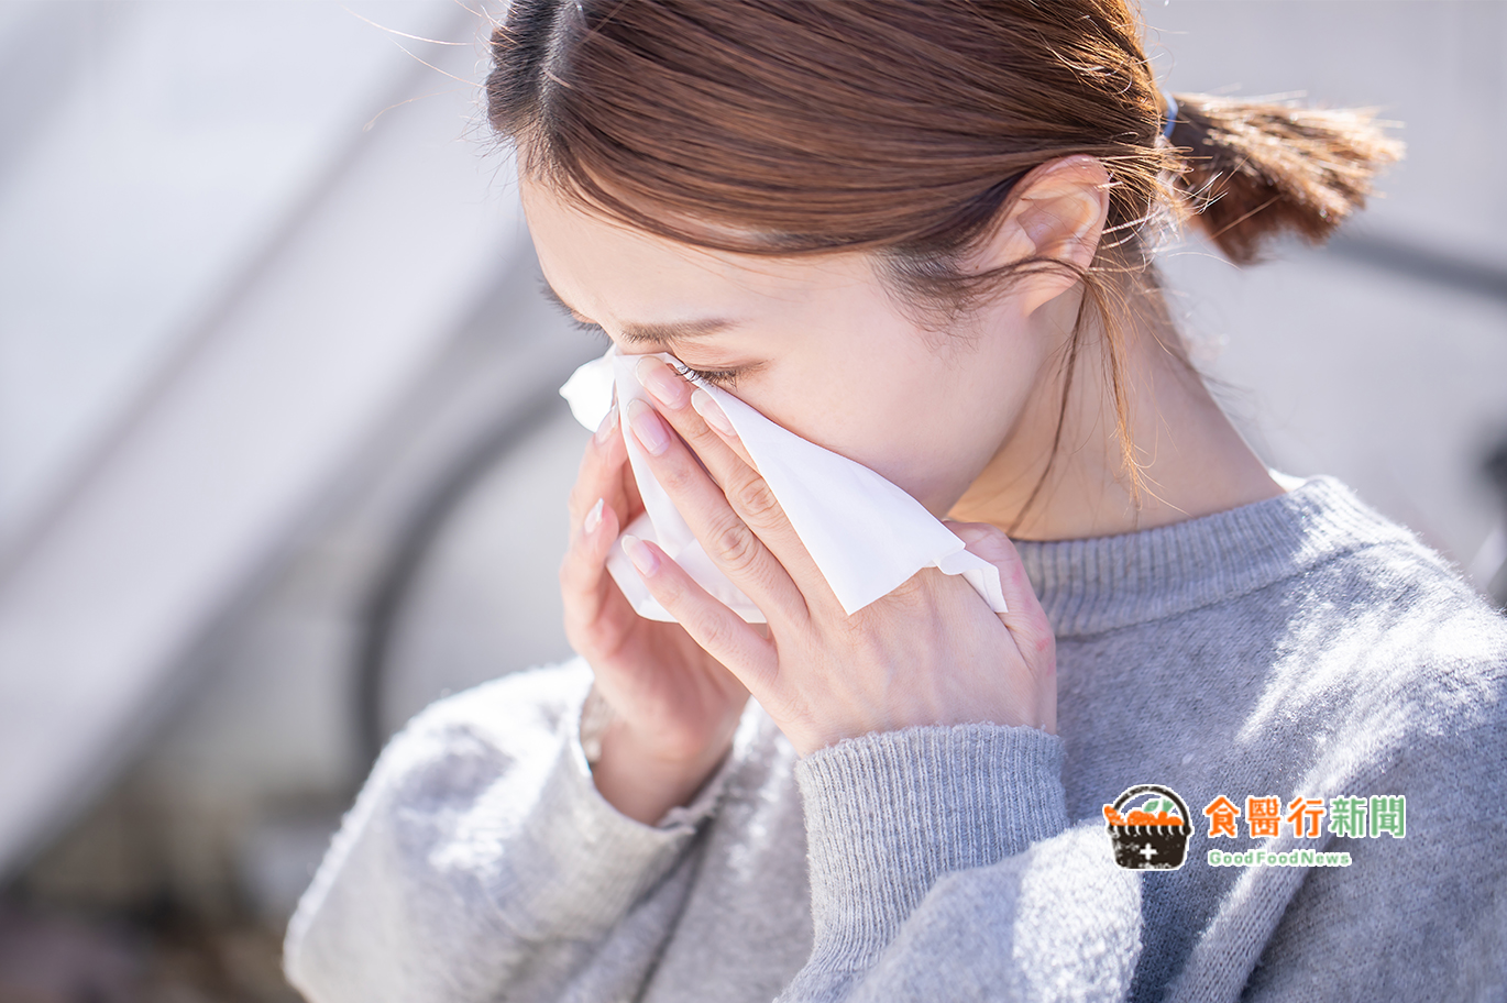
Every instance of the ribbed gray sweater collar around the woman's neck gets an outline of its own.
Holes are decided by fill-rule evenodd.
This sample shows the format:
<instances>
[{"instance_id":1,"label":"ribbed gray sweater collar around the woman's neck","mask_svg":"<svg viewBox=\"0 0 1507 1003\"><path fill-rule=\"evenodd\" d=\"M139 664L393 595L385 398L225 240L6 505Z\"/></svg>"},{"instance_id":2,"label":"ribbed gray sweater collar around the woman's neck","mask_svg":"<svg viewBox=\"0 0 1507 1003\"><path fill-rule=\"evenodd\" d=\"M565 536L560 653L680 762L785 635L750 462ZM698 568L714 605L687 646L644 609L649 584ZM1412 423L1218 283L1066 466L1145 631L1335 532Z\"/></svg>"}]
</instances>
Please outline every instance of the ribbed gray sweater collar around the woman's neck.
<instances>
[{"instance_id":1,"label":"ribbed gray sweater collar around the woman's neck","mask_svg":"<svg viewBox=\"0 0 1507 1003\"><path fill-rule=\"evenodd\" d=\"M1212 605L1377 542L1417 538L1328 474L1272 498L1135 533L1014 541L1058 637Z\"/></svg>"}]
</instances>

